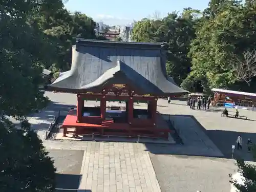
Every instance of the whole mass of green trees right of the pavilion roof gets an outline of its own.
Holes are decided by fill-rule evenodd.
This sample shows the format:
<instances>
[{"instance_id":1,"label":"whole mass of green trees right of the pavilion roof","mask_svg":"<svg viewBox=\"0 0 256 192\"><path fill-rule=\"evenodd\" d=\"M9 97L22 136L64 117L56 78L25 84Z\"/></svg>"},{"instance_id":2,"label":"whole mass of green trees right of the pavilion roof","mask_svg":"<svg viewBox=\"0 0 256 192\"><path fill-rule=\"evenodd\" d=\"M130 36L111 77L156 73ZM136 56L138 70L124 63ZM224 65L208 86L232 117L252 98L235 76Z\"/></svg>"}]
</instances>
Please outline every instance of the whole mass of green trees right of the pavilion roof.
<instances>
[{"instance_id":1,"label":"whole mass of green trees right of the pavilion roof","mask_svg":"<svg viewBox=\"0 0 256 192\"><path fill-rule=\"evenodd\" d=\"M203 91L252 91L255 64L248 58L255 53L255 6L254 1L211 0L202 12L185 8L144 18L135 24L133 40L166 42L167 75L188 91L199 81Z\"/></svg>"}]
</instances>

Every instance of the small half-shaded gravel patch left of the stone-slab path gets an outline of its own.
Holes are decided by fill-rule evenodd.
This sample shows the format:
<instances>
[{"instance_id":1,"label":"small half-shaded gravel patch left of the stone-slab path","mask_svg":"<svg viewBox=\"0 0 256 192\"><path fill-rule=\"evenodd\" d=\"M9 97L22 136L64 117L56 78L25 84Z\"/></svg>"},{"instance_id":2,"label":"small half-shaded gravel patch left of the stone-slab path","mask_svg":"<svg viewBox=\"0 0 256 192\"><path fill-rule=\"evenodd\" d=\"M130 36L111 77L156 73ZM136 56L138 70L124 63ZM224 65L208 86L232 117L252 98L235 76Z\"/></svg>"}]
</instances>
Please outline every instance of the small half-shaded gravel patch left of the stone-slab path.
<instances>
[{"instance_id":1,"label":"small half-shaded gravel patch left of the stone-slab path","mask_svg":"<svg viewBox=\"0 0 256 192\"><path fill-rule=\"evenodd\" d=\"M80 170L84 151L77 150L48 150L57 168L56 188L77 189L80 180ZM65 190L57 190L62 192ZM69 190L70 191L70 190Z\"/></svg>"}]
</instances>

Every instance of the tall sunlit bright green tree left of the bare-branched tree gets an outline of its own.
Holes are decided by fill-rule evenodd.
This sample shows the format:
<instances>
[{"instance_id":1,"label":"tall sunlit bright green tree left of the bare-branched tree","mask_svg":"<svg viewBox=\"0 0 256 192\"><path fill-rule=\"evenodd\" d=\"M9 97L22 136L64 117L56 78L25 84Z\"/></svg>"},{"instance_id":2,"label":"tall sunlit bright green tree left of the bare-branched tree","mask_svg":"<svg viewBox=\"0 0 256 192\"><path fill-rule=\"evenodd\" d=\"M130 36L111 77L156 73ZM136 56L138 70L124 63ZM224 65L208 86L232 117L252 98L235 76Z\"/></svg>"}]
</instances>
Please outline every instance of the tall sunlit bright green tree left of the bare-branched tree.
<instances>
[{"instance_id":1,"label":"tall sunlit bright green tree left of the bare-branched tree","mask_svg":"<svg viewBox=\"0 0 256 192\"><path fill-rule=\"evenodd\" d=\"M237 31L243 9L233 3L232 7L222 7L222 10L214 17L201 18L189 53L192 58L190 75L197 79L206 77L211 88L228 87L236 82L230 60L237 54L237 39L242 37Z\"/></svg>"}]
</instances>

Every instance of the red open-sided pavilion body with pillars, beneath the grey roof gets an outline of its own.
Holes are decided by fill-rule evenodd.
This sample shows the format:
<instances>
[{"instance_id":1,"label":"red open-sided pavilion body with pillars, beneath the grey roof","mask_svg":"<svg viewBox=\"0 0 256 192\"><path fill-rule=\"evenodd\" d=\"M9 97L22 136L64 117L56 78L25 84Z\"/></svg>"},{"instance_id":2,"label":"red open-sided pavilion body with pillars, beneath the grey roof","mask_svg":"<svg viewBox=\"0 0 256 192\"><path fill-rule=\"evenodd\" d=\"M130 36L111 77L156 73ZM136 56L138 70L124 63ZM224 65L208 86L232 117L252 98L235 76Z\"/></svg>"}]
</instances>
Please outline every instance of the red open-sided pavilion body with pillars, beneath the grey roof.
<instances>
[{"instance_id":1,"label":"red open-sided pavilion body with pillars, beneath the grey roof","mask_svg":"<svg viewBox=\"0 0 256 192\"><path fill-rule=\"evenodd\" d=\"M75 135L94 133L168 137L168 127L157 123L156 109L156 97L139 95L125 84L113 84L112 87L105 87L101 93L78 94L76 122L71 121L73 117L66 117L62 124L63 136L69 132L68 127L75 127ZM161 126L160 129L157 129L158 126Z\"/></svg>"}]
</instances>

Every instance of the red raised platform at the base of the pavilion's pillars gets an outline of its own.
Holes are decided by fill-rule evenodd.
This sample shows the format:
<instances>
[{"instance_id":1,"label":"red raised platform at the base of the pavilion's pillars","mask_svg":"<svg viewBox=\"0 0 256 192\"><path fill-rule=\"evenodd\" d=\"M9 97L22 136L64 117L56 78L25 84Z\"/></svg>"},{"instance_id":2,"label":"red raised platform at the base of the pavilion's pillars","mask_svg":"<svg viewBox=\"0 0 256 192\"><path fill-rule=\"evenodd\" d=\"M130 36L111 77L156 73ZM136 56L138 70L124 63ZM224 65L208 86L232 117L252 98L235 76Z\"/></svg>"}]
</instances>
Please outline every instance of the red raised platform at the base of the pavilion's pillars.
<instances>
[{"instance_id":1,"label":"red raised platform at the base of the pavilion's pillars","mask_svg":"<svg viewBox=\"0 0 256 192\"><path fill-rule=\"evenodd\" d=\"M95 117L97 118L97 117ZM100 118L100 117L98 117ZM143 119L139 119L142 121ZM113 120L104 120L101 124L93 124L93 123L78 123L76 110L72 110L66 116L62 128L63 136L66 134L72 133L73 135L86 135L86 134L100 134L100 135L123 135L123 136L149 136L149 137L162 137L168 138L168 133L171 132L169 130L168 124L162 118L160 114L157 114L156 117L156 125L155 126L147 126L147 127L139 127L133 126L129 123L114 123ZM75 128L74 131L68 130L68 128Z\"/></svg>"}]
</instances>

